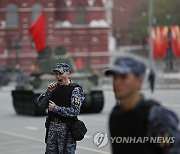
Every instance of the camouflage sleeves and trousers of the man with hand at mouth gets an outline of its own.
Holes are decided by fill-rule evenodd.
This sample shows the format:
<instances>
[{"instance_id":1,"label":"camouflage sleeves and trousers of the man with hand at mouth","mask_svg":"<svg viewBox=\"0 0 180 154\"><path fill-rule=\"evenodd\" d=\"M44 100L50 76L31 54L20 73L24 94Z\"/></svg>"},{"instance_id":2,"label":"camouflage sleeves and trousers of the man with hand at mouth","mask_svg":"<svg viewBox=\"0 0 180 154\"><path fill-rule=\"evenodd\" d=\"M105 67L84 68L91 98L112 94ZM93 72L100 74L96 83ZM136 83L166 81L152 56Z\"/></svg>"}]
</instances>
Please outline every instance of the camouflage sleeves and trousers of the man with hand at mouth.
<instances>
[{"instance_id":1,"label":"camouflage sleeves and trousers of the man with hand at mouth","mask_svg":"<svg viewBox=\"0 0 180 154\"><path fill-rule=\"evenodd\" d=\"M38 99L37 103L40 107L47 108L49 103L51 93L42 93ZM84 93L80 87L75 87L71 95L71 107L59 107L55 105L53 112L64 116L64 117L74 117L80 113L80 107L84 101ZM66 135L66 124L50 122L48 138L46 142L46 154L62 154L64 149L64 139ZM68 135L67 140L67 154L74 154L76 150L76 141Z\"/></svg>"}]
</instances>

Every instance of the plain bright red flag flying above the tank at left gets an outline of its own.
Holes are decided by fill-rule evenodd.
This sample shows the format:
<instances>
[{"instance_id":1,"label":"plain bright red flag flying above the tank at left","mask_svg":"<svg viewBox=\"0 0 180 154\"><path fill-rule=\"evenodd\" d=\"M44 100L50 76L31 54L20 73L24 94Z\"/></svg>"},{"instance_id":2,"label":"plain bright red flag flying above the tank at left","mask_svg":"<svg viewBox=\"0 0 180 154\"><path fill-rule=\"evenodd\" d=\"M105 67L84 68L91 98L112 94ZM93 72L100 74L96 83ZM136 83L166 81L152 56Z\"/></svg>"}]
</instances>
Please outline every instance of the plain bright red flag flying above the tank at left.
<instances>
[{"instance_id":1,"label":"plain bright red flag flying above the tank at left","mask_svg":"<svg viewBox=\"0 0 180 154\"><path fill-rule=\"evenodd\" d=\"M45 47L45 20L43 12L40 13L37 19L30 26L29 34L35 43L37 51L40 51Z\"/></svg>"}]
</instances>

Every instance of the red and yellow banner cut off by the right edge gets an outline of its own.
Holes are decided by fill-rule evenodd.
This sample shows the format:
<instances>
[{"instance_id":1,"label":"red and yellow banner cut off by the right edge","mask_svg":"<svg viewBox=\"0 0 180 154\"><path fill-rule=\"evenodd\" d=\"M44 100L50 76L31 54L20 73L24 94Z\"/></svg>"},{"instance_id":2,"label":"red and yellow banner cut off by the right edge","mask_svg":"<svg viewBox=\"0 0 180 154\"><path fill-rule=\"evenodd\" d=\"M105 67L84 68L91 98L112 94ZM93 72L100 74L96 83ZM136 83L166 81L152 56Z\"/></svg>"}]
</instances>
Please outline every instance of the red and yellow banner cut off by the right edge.
<instances>
[{"instance_id":1,"label":"red and yellow banner cut off by the right edge","mask_svg":"<svg viewBox=\"0 0 180 154\"><path fill-rule=\"evenodd\" d=\"M171 26L171 47L175 57L180 58L180 27Z\"/></svg>"}]
</instances>

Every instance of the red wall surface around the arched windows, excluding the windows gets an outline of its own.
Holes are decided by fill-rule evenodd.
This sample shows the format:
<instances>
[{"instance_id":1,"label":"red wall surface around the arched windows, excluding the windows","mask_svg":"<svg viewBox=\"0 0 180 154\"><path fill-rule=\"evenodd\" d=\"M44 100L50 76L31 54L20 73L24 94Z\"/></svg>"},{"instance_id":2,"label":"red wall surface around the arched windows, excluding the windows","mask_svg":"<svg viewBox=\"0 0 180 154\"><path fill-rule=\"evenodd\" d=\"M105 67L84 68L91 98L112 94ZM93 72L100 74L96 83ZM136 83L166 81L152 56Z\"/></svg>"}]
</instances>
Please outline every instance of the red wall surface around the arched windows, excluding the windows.
<instances>
[{"instance_id":1,"label":"red wall surface around the arched windows, excluding the windows","mask_svg":"<svg viewBox=\"0 0 180 154\"><path fill-rule=\"evenodd\" d=\"M13 2L19 8L19 27L16 29L0 29L0 55L4 54L7 40L12 43L19 38L21 41L21 49L19 53L19 64L22 71L29 73L33 65L37 53L30 47L31 39L28 35L28 28L32 23L32 5L36 0L6 0L0 1L0 20L5 20L5 8L8 3ZM65 46L69 53L75 52L108 52L107 37L109 28L90 28L89 23L92 20L105 19L105 12L101 0L95 0L94 7L99 8L100 11L92 10L87 0L73 0L70 7L66 6L63 0L39 0L45 12L46 22L46 42L53 48L59 45ZM86 6L86 24L83 26L73 26L74 24L74 7L77 3L83 3ZM64 11L64 9L67 9ZM68 20L72 23L71 28L56 28L55 23L59 20ZM9 58L0 57L0 65L15 65L15 50L14 47L9 50ZM77 58L77 57L73 57ZM89 68L94 63L104 64L108 63L108 57L82 57L84 61L89 60ZM94 59L94 60L91 60ZM96 60L95 60L96 59ZM94 62L93 62L94 61ZM96 69L92 71L97 72Z\"/></svg>"}]
</instances>

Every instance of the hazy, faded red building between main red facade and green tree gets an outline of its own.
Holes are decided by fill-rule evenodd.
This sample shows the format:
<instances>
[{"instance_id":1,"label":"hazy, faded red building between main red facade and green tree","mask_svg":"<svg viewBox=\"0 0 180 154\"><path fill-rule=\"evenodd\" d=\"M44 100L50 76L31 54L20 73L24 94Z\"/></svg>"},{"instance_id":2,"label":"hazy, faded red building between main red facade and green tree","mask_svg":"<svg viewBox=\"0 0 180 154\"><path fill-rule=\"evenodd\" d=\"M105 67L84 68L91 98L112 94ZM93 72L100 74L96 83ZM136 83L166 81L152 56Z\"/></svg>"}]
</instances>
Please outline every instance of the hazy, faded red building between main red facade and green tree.
<instances>
[{"instance_id":1,"label":"hazy, faded red building between main red facade and green tree","mask_svg":"<svg viewBox=\"0 0 180 154\"><path fill-rule=\"evenodd\" d=\"M145 12L138 11L142 3L143 0L113 0L112 31L117 47L141 43L132 39L129 25L137 15L146 15Z\"/></svg>"}]
</instances>

